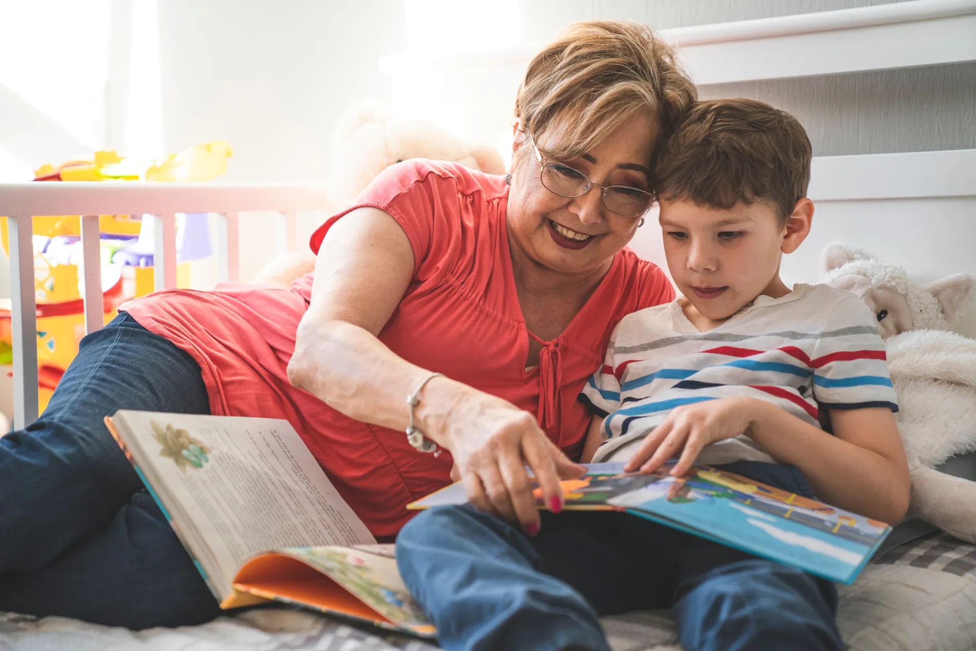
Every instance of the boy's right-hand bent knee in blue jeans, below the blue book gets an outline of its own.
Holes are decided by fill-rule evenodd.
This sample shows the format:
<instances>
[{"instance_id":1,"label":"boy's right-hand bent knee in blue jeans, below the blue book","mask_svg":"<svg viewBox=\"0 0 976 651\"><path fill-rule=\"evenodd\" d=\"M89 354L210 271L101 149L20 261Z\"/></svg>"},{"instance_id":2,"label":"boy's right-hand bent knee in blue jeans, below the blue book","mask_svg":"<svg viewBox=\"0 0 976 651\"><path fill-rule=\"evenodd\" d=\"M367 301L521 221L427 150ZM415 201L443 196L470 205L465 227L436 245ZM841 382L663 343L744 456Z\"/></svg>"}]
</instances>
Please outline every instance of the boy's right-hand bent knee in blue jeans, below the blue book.
<instances>
[{"instance_id":1,"label":"boy's right-hand bent knee in blue jeans, below the blue book","mask_svg":"<svg viewBox=\"0 0 976 651\"><path fill-rule=\"evenodd\" d=\"M764 560L714 570L674 606L681 642L696 649L843 649L833 585Z\"/></svg>"}]
</instances>

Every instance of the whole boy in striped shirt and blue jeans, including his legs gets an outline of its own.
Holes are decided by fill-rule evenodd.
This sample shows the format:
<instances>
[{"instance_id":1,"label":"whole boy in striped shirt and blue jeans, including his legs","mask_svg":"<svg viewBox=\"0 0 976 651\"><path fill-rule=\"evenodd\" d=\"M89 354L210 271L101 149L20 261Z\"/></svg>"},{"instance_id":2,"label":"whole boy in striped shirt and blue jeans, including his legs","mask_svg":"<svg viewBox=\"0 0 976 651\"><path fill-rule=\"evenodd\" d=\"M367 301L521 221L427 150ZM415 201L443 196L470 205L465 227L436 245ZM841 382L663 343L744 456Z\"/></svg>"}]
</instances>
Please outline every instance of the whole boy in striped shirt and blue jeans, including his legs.
<instances>
[{"instance_id":1,"label":"whole boy in striped shirt and blue jeans, including his legs","mask_svg":"<svg viewBox=\"0 0 976 651\"><path fill-rule=\"evenodd\" d=\"M662 144L660 222L684 296L618 324L581 395L594 414L584 461L651 471L677 456L674 473L721 465L879 520L904 515L908 466L874 315L779 276L810 229L810 157L793 116L747 100L700 102ZM400 532L404 581L445 648L603 650L597 615L665 607L688 651L844 648L828 581L626 513L542 515L534 538L468 506Z\"/></svg>"}]
</instances>

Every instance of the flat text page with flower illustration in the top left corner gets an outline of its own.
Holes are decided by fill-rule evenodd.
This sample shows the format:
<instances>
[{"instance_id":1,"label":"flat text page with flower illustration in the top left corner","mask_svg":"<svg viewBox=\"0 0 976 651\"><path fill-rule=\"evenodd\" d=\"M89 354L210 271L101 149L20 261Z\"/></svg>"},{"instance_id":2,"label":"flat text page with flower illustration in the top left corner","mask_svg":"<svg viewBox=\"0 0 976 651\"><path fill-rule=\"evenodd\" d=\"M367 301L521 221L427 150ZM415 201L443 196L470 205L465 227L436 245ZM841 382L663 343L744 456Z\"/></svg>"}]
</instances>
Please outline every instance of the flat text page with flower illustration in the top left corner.
<instances>
[{"instance_id":1,"label":"flat text page with flower illustration in the top left corner","mask_svg":"<svg viewBox=\"0 0 976 651\"><path fill-rule=\"evenodd\" d=\"M259 551L376 542L287 421L133 411L119 420L227 585Z\"/></svg>"}]
</instances>

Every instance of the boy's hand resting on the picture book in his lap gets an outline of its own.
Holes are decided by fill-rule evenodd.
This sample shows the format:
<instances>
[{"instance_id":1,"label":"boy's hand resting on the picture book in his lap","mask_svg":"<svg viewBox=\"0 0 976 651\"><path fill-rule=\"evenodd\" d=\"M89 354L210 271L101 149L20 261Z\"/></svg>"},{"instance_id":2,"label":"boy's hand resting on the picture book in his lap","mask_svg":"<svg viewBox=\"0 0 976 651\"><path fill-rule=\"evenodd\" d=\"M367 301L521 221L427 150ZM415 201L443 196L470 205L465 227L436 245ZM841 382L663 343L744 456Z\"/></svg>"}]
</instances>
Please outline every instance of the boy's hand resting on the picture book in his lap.
<instances>
[{"instance_id":1,"label":"boy's hand resting on the picture book in his lap","mask_svg":"<svg viewBox=\"0 0 976 651\"><path fill-rule=\"evenodd\" d=\"M684 474L706 445L746 433L769 403L758 398L718 398L671 410L630 458L628 472L653 472L681 451L671 474Z\"/></svg>"}]
</instances>

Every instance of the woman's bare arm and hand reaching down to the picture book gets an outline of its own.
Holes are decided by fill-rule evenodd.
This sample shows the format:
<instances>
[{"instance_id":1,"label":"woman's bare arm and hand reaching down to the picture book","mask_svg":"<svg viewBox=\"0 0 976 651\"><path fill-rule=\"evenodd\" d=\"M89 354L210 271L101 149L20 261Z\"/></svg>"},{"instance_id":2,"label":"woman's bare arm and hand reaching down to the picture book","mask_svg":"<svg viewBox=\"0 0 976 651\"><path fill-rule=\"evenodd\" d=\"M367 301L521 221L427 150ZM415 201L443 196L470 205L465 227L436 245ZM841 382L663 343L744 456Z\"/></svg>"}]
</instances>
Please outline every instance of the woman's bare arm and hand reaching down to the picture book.
<instances>
[{"instance_id":1,"label":"woman's bare arm and hand reaching down to the picture book","mask_svg":"<svg viewBox=\"0 0 976 651\"><path fill-rule=\"evenodd\" d=\"M393 353L377 335L413 272L410 241L386 212L359 208L333 224L318 253L311 302L288 365L292 384L357 421L406 429L406 397L430 371ZM578 476L582 468L566 459L531 414L448 378L427 383L420 398L418 427L451 451L475 506L538 530L528 464L547 504L561 508L558 477Z\"/></svg>"}]
</instances>

